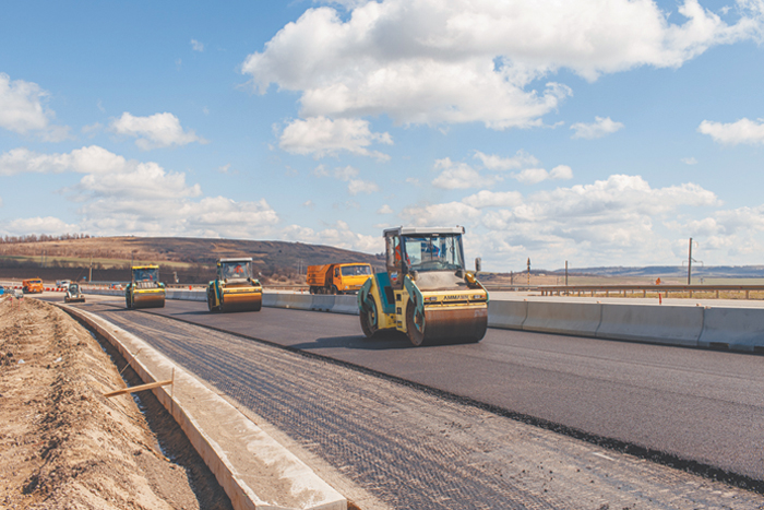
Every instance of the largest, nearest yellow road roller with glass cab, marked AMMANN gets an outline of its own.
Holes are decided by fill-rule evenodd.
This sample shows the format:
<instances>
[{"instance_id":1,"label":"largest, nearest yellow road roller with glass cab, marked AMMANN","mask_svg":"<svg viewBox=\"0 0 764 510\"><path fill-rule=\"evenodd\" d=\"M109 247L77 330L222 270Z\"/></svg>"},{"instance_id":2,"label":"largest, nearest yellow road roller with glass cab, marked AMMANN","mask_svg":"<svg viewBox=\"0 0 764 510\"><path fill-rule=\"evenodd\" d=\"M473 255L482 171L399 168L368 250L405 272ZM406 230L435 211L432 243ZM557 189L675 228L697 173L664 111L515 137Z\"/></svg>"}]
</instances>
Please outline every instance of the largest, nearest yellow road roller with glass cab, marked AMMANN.
<instances>
[{"instance_id":1,"label":"largest, nearest yellow road roller with glass cab, marked AMMANN","mask_svg":"<svg viewBox=\"0 0 764 510\"><path fill-rule=\"evenodd\" d=\"M386 271L358 293L363 334L406 333L414 345L479 342L488 327L488 292L466 271L464 227L384 230Z\"/></svg>"}]
</instances>

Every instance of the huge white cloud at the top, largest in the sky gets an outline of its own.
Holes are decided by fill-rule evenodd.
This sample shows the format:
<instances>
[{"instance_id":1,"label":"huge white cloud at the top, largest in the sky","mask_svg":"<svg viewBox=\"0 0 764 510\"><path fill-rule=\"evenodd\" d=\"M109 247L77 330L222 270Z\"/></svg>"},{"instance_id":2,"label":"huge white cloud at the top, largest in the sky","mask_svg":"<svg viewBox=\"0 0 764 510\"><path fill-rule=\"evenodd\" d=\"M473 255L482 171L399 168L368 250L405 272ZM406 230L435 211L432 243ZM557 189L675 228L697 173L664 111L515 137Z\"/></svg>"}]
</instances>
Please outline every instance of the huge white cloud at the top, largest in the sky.
<instances>
[{"instance_id":1,"label":"huge white cloud at the top, largest in the sky","mask_svg":"<svg viewBox=\"0 0 764 510\"><path fill-rule=\"evenodd\" d=\"M762 38L757 2L728 24L696 0L676 23L653 1L384 0L309 9L242 63L252 85L301 94L302 117L539 126L571 94L542 79L678 68L709 47ZM574 20L574 22L571 22ZM542 82L541 82L542 83Z\"/></svg>"}]
</instances>

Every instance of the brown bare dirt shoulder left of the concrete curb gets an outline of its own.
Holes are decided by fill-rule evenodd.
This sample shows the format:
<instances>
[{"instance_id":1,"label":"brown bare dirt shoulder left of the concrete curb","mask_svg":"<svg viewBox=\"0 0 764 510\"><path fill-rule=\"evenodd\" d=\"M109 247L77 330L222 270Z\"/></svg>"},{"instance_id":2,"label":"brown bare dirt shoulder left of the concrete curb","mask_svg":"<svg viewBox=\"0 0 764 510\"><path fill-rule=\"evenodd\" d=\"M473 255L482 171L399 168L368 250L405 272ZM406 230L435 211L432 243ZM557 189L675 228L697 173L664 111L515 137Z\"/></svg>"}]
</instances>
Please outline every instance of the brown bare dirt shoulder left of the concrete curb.
<instances>
[{"instance_id":1,"label":"brown bare dirt shoulder left of the concrete curb","mask_svg":"<svg viewBox=\"0 0 764 510\"><path fill-rule=\"evenodd\" d=\"M130 395L103 396L124 386L100 344L63 311L29 298L0 301L0 507L230 508L151 394L139 401L153 407L148 423Z\"/></svg>"}]
</instances>

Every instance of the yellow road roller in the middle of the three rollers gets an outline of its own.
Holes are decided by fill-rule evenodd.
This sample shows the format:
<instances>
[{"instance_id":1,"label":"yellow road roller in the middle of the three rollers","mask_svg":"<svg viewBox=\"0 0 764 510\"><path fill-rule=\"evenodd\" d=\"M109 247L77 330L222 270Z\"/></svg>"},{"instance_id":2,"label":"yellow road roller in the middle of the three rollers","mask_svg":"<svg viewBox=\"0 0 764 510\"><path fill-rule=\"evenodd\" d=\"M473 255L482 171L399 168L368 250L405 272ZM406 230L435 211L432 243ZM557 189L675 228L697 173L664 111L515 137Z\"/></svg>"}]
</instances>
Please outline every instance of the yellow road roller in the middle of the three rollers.
<instances>
[{"instance_id":1,"label":"yellow road roller in the middle of the three rollers","mask_svg":"<svg viewBox=\"0 0 764 510\"><path fill-rule=\"evenodd\" d=\"M252 259L219 259L217 278L207 285L210 311L260 311L263 286L252 277Z\"/></svg>"}]
</instances>

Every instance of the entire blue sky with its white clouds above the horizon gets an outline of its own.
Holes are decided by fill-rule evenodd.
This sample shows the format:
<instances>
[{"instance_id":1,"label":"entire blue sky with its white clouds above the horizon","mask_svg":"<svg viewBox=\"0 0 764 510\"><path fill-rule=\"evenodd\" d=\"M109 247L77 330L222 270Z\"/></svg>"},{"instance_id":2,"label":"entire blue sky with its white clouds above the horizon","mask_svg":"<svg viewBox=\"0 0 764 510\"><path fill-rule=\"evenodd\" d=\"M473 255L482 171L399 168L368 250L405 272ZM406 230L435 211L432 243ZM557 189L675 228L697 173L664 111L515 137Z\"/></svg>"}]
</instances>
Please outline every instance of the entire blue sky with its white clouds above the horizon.
<instances>
[{"instance_id":1,"label":"entire blue sky with its white clouds above the horizon","mask_svg":"<svg viewBox=\"0 0 764 510\"><path fill-rule=\"evenodd\" d=\"M764 1L7 2L0 235L761 264Z\"/></svg>"}]
</instances>

